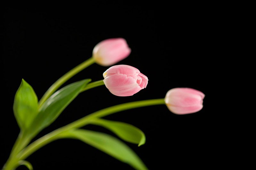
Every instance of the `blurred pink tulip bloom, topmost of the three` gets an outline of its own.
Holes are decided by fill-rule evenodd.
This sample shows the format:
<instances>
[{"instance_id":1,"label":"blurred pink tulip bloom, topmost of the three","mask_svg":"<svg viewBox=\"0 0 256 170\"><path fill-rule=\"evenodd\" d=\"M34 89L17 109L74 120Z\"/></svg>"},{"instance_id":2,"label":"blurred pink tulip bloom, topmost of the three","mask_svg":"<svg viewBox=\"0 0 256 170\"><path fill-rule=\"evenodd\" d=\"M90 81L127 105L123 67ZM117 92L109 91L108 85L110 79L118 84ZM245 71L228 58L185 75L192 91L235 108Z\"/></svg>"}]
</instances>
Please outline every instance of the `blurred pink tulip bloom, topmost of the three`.
<instances>
[{"instance_id":1,"label":"blurred pink tulip bloom, topmost of the three","mask_svg":"<svg viewBox=\"0 0 256 170\"><path fill-rule=\"evenodd\" d=\"M92 57L95 63L102 66L113 65L131 53L131 48L128 47L123 38L110 38L99 42L92 51Z\"/></svg>"}]
</instances>

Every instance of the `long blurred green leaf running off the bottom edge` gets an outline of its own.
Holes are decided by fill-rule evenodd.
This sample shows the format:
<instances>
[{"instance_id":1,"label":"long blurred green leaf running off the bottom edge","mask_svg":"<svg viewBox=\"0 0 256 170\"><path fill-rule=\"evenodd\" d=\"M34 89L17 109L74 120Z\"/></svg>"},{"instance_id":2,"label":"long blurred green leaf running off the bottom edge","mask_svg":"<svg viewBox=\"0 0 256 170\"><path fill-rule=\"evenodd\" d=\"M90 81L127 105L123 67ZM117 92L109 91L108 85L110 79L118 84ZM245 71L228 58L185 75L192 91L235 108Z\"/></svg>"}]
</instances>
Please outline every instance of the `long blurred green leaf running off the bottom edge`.
<instances>
[{"instance_id":1,"label":"long blurred green leaf running off the bottom edge","mask_svg":"<svg viewBox=\"0 0 256 170\"><path fill-rule=\"evenodd\" d=\"M102 133L85 129L76 129L68 132L67 137L79 139L108 155L129 164L137 170L147 170L140 157L119 139Z\"/></svg>"}]
</instances>

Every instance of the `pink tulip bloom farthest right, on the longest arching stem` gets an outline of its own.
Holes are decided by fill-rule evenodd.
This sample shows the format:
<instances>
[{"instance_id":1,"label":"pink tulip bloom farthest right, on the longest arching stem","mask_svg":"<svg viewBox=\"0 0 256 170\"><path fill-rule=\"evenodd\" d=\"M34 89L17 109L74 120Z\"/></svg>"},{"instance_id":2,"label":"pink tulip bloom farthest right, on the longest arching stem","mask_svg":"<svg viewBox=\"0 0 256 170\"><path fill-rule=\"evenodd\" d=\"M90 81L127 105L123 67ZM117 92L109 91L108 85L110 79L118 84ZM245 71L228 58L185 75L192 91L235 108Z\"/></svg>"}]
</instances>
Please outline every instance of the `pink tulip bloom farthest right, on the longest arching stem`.
<instances>
[{"instance_id":1,"label":"pink tulip bloom farthest right, on the longest arching stem","mask_svg":"<svg viewBox=\"0 0 256 170\"><path fill-rule=\"evenodd\" d=\"M177 115L198 112L203 108L204 93L191 88L173 88L164 101L168 109Z\"/></svg>"}]
</instances>

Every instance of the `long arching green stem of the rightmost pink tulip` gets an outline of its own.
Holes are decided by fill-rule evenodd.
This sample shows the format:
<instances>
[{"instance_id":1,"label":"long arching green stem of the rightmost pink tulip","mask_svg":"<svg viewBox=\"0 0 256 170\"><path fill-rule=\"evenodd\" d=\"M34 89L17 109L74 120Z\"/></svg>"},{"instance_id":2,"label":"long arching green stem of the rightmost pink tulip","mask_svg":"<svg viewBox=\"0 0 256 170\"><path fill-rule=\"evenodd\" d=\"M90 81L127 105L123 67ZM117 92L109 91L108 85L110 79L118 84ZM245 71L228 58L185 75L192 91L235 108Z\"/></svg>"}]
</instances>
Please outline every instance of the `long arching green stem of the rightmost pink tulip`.
<instances>
[{"instance_id":1,"label":"long arching green stem of the rightmost pink tulip","mask_svg":"<svg viewBox=\"0 0 256 170\"><path fill-rule=\"evenodd\" d=\"M90 115L87 115L81 119L78 119L75 122L69 123L66 126L63 126L59 129L56 129L52 131L51 133L48 133L47 135L37 139L35 142L28 145L20 154L18 155L20 160L26 159L29 155L34 153L36 150L40 149L44 145L56 140L62 138L61 134L67 132L70 129L73 128L81 128L87 124L90 123L90 120L93 118L100 118L107 115L111 115L116 112L132 109L132 108L138 108L138 107L145 107L145 106L152 106L152 105L165 105L164 99L151 99L151 100L141 100L141 101L134 101L124 104L119 104L116 106L108 107L102 110L99 110L97 112L94 112Z\"/></svg>"}]
</instances>

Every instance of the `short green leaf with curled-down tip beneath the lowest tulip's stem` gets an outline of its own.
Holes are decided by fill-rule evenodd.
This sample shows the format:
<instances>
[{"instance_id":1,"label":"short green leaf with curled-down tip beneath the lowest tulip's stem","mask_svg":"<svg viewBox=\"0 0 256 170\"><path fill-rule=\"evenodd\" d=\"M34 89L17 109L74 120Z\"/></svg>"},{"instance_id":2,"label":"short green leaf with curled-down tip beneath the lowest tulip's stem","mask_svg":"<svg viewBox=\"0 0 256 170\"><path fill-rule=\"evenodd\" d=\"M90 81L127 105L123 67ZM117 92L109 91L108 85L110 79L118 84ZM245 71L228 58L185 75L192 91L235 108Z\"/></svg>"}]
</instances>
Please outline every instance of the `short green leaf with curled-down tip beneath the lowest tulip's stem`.
<instances>
[{"instance_id":1,"label":"short green leaf with curled-down tip beneath the lowest tulip's stem","mask_svg":"<svg viewBox=\"0 0 256 170\"><path fill-rule=\"evenodd\" d=\"M138 144L138 146L145 144L146 142L145 134L139 128L131 124L105 119L93 119L90 123L107 128L121 139L133 144Z\"/></svg>"}]
</instances>

